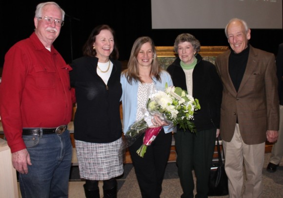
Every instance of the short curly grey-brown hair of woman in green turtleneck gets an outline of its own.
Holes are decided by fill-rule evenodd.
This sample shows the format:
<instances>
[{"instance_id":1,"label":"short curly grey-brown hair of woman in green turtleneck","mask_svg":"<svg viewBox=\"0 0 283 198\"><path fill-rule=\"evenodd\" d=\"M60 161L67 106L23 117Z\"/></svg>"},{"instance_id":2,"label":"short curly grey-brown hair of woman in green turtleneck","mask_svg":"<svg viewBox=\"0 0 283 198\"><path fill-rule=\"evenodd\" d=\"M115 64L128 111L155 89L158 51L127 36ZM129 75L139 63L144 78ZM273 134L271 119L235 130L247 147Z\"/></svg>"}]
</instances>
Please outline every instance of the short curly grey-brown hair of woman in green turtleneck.
<instances>
[{"instance_id":1,"label":"short curly grey-brown hair of woman in green turtleneck","mask_svg":"<svg viewBox=\"0 0 283 198\"><path fill-rule=\"evenodd\" d=\"M177 38L175 39L175 43L174 43L174 51L175 53L178 54L178 45L179 43L183 43L183 42L189 42L192 44L194 51L196 53L200 52L201 50L201 43L198 39L196 39L195 36L188 34L188 33L184 33L181 35L178 35Z\"/></svg>"}]
</instances>

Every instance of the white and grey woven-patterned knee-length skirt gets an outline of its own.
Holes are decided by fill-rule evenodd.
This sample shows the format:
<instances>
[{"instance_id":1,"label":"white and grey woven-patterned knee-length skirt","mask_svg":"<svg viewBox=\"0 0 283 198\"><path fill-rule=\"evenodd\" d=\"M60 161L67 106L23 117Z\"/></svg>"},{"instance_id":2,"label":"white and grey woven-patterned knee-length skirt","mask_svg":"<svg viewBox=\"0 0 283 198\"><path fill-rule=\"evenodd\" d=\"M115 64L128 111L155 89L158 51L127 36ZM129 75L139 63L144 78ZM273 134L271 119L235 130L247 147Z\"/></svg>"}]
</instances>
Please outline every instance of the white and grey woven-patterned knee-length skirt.
<instances>
[{"instance_id":1,"label":"white and grey woven-patterned knee-length skirt","mask_svg":"<svg viewBox=\"0 0 283 198\"><path fill-rule=\"evenodd\" d=\"M123 174L122 138L112 143L88 143L75 140L80 177L109 180Z\"/></svg>"}]
</instances>

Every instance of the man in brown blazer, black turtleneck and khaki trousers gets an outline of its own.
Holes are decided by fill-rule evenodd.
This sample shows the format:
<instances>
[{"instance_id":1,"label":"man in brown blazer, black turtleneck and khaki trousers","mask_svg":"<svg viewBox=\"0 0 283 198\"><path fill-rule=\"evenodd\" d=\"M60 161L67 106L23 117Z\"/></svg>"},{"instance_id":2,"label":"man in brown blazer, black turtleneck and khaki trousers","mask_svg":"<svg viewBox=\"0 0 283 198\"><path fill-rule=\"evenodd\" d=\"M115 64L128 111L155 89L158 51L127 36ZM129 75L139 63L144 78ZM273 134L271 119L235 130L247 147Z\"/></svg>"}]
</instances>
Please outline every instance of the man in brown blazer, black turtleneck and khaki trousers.
<instances>
[{"instance_id":1,"label":"man in brown blazer, black turtleneck and khaki trousers","mask_svg":"<svg viewBox=\"0 0 283 198\"><path fill-rule=\"evenodd\" d=\"M233 18L225 28L231 50L216 67L223 83L220 134L228 176L229 198L262 195L265 141L278 137L279 100L274 54L253 48L245 21ZM243 169L244 165L244 169Z\"/></svg>"}]
</instances>

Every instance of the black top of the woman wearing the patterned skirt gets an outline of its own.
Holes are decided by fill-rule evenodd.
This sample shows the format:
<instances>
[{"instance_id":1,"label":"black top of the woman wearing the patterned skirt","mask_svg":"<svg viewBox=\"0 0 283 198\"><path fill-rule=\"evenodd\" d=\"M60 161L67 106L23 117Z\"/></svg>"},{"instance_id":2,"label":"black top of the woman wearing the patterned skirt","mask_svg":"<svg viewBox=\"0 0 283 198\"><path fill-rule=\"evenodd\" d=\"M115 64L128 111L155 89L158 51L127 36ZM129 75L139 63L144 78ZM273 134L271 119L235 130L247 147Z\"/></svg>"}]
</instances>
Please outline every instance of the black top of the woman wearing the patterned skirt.
<instances>
[{"instance_id":1,"label":"black top of the woman wearing the patterned skirt","mask_svg":"<svg viewBox=\"0 0 283 198\"><path fill-rule=\"evenodd\" d=\"M111 60L111 59L110 59ZM120 118L121 62L113 69L107 87L97 74L98 58L81 57L71 64L71 87L76 90L74 138L91 143L111 143L122 135Z\"/></svg>"}]
</instances>

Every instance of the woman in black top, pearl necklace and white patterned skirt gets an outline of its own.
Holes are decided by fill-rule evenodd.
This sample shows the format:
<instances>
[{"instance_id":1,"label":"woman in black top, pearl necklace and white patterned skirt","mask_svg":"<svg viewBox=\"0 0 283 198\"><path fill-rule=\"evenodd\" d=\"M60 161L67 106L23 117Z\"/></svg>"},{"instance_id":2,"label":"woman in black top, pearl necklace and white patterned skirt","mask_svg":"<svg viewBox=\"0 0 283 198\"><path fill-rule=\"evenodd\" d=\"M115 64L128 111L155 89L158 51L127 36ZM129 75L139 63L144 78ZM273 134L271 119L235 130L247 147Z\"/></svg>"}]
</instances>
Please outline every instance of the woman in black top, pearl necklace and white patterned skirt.
<instances>
[{"instance_id":1,"label":"woman in black top, pearl necklace and white patterned skirt","mask_svg":"<svg viewBox=\"0 0 283 198\"><path fill-rule=\"evenodd\" d=\"M100 198L99 180L103 180L104 198L116 198L115 178L123 173L119 150L122 88L113 30L108 25L94 28L83 54L72 62L70 72L77 99L74 138L80 176L86 180L83 185L86 198Z\"/></svg>"}]
</instances>

